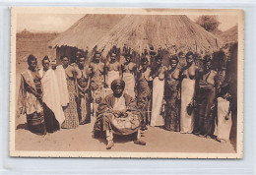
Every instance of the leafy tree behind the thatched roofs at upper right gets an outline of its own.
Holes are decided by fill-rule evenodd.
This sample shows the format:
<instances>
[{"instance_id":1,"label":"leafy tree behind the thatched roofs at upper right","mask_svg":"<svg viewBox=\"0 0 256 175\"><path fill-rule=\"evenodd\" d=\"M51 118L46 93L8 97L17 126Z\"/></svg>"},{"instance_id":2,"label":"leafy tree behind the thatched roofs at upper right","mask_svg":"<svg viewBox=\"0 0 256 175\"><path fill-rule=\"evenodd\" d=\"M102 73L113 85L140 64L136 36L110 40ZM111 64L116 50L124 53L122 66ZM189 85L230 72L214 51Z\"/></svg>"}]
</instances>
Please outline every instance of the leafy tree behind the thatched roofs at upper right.
<instances>
[{"instance_id":1,"label":"leafy tree behind the thatched roofs at upper right","mask_svg":"<svg viewBox=\"0 0 256 175\"><path fill-rule=\"evenodd\" d=\"M208 31L216 30L220 25L217 16L214 15L202 15L198 17L196 23Z\"/></svg>"}]
</instances>

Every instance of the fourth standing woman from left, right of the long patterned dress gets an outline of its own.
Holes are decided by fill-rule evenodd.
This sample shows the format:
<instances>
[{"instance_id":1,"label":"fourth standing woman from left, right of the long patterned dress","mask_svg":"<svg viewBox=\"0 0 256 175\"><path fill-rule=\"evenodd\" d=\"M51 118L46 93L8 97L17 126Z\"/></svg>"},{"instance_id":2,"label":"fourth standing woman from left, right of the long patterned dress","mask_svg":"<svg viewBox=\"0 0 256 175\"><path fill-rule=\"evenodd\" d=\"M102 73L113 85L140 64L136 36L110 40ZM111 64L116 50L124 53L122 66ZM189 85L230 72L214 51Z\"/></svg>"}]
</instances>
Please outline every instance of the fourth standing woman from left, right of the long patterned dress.
<instances>
[{"instance_id":1,"label":"fourth standing woman from left, right of the long patterned dress","mask_svg":"<svg viewBox=\"0 0 256 175\"><path fill-rule=\"evenodd\" d=\"M85 61L85 57L78 58L78 114L80 125L91 122L91 78L89 77L89 69L85 68Z\"/></svg>"}]
</instances>

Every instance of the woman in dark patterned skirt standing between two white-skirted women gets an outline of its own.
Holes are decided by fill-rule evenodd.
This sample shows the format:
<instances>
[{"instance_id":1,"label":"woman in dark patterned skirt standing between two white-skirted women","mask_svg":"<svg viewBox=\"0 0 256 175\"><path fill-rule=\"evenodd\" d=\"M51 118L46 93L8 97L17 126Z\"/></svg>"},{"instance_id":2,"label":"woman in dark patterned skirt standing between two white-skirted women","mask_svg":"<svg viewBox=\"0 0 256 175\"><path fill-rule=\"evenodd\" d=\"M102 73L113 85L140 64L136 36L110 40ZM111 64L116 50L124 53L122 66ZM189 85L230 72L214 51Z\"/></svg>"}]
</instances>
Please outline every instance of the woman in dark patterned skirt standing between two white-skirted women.
<instances>
[{"instance_id":1,"label":"woman in dark patterned skirt standing between two white-skirted women","mask_svg":"<svg viewBox=\"0 0 256 175\"><path fill-rule=\"evenodd\" d=\"M172 56L169 60L169 67L166 71L166 83L165 83L165 101L166 101L166 113L165 113L165 129L169 131L179 132L180 126L180 65L178 65L178 57Z\"/></svg>"}]
</instances>

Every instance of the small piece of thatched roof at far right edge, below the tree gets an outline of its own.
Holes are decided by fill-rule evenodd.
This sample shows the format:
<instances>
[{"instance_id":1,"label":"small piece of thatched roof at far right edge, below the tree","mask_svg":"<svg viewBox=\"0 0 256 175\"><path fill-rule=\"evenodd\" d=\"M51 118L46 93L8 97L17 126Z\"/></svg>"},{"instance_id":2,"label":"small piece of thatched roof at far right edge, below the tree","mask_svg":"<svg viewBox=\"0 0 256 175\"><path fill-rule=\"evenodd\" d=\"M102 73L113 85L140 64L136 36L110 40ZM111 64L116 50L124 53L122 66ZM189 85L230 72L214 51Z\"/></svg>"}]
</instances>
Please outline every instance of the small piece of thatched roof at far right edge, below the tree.
<instances>
[{"instance_id":1,"label":"small piece of thatched roof at far right edge, below the tree","mask_svg":"<svg viewBox=\"0 0 256 175\"><path fill-rule=\"evenodd\" d=\"M234 26L230 29L225 30L219 35L224 42L237 42L238 40L238 26Z\"/></svg>"}]
</instances>

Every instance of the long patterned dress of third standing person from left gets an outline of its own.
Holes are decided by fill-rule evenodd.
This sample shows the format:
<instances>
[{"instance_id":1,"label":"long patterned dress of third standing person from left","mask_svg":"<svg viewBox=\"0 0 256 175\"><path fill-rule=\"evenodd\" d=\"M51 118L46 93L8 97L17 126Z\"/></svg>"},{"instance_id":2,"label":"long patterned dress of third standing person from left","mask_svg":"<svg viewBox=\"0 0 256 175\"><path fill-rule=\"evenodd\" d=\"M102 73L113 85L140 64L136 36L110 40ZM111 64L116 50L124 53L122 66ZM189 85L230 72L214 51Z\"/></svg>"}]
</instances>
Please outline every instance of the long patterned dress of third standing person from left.
<instances>
[{"instance_id":1,"label":"long patterned dress of third standing person from left","mask_svg":"<svg viewBox=\"0 0 256 175\"><path fill-rule=\"evenodd\" d=\"M70 78L66 74L67 87L69 92L69 104L67 107L64 107L65 121L63 122L61 128L71 129L77 128L79 126L79 118L77 111L77 102L75 99L76 88L74 78Z\"/></svg>"}]
</instances>

